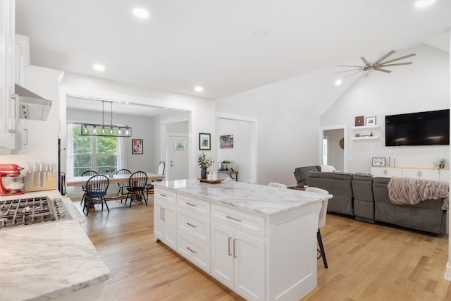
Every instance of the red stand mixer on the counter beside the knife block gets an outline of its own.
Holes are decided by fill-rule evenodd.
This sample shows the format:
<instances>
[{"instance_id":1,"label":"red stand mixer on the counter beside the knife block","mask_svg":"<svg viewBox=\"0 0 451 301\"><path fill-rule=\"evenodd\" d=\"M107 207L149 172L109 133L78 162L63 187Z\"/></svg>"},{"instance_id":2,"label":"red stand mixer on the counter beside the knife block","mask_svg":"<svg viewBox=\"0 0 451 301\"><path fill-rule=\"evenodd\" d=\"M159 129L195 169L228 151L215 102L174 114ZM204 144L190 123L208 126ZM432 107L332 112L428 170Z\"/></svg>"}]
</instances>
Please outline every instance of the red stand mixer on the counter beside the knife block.
<instances>
[{"instance_id":1,"label":"red stand mixer on the counter beside the knife block","mask_svg":"<svg viewBox=\"0 0 451 301\"><path fill-rule=\"evenodd\" d=\"M20 176L22 169L16 164L0 164L0 196L25 193L25 176Z\"/></svg>"}]
</instances>

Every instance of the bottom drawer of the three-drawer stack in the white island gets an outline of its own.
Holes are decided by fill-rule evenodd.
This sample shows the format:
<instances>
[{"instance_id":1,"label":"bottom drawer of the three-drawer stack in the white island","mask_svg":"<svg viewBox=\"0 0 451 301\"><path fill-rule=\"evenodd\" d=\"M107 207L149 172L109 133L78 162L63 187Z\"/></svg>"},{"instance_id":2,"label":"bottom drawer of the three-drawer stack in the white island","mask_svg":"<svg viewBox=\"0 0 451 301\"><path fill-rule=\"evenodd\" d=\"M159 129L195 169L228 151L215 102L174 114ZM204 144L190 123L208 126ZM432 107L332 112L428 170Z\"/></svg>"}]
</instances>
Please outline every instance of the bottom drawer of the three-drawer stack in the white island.
<instances>
[{"instance_id":1,"label":"bottom drawer of the three-drawer stack in the white island","mask_svg":"<svg viewBox=\"0 0 451 301\"><path fill-rule=\"evenodd\" d=\"M190 260L193 264L199 266L207 273L210 273L210 247L202 242L198 242L189 236L178 232L178 252Z\"/></svg>"}]
</instances>

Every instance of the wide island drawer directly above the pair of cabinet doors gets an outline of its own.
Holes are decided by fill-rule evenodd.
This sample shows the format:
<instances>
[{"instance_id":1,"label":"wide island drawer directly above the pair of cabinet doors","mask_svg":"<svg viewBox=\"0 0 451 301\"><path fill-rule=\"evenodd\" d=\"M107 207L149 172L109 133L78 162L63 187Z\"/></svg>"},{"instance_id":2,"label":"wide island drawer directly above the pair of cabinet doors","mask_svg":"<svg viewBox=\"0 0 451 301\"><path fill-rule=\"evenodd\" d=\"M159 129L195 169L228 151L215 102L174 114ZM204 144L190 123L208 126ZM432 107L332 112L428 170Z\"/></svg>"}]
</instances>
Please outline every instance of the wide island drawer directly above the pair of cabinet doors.
<instances>
[{"instance_id":1,"label":"wide island drawer directly above the pair of cabinet doors","mask_svg":"<svg viewBox=\"0 0 451 301\"><path fill-rule=\"evenodd\" d=\"M211 220L251 235L265 236L263 216L211 204Z\"/></svg>"}]
</instances>

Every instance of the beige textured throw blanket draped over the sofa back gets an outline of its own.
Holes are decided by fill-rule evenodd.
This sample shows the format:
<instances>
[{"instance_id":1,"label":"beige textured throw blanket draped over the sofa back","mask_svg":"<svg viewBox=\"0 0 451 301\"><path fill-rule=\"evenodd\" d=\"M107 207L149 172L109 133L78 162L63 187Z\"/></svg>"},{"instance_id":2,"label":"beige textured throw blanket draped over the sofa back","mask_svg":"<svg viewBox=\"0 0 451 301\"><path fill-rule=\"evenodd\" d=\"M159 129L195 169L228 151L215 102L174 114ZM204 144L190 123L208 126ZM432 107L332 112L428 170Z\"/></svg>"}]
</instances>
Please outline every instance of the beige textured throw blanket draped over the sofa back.
<instances>
[{"instance_id":1,"label":"beige textured throw blanket draped over the sofa back","mask_svg":"<svg viewBox=\"0 0 451 301\"><path fill-rule=\"evenodd\" d=\"M388 197L393 204L415 205L426 199L442 199L442 209L449 208L449 184L447 182L416 178L392 177L388 181Z\"/></svg>"}]
</instances>

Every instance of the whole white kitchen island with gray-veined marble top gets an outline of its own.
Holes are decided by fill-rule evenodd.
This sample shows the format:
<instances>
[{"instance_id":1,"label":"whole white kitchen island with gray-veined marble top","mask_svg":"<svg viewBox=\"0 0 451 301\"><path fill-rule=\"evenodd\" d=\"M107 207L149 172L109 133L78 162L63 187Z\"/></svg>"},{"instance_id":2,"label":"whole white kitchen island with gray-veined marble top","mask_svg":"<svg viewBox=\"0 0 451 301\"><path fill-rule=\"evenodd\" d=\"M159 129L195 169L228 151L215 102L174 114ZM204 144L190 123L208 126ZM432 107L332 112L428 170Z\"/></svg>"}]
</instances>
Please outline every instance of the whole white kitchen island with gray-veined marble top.
<instances>
[{"instance_id":1,"label":"whole white kitchen island with gray-veined marble top","mask_svg":"<svg viewBox=\"0 0 451 301\"><path fill-rule=\"evenodd\" d=\"M246 300L300 300L316 287L318 216L331 197L235 181L159 182L154 239Z\"/></svg>"}]
</instances>

